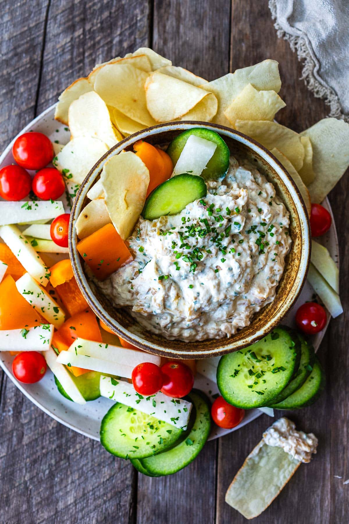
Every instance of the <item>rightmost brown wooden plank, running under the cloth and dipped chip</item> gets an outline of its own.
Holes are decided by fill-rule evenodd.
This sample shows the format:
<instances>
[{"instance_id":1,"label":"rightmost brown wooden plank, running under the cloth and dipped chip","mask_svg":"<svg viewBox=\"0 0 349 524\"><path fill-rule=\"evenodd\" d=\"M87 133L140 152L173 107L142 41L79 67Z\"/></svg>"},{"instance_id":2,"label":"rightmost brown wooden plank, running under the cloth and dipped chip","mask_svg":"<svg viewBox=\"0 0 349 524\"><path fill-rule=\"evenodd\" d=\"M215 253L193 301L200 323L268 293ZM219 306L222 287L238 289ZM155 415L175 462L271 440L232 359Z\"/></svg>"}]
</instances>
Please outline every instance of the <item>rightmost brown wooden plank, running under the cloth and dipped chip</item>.
<instances>
[{"instance_id":1,"label":"rightmost brown wooden plank, running under the cloth and dipped chip","mask_svg":"<svg viewBox=\"0 0 349 524\"><path fill-rule=\"evenodd\" d=\"M302 130L328 114L324 102L315 99L307 90L301 76L301 64L284 40L276 39L276 32L267 5L263 3L232 3L231 69L259 62L266 58L278 60L283 88L280 95L287 107L280 111L280 123ZM345 202L347 179L343 179L330 195L335 218L338 223L347 223ZM348 232L344 233L348 236ZM341 243L341 260L348 255L346 242ZM341 281L347 278L342 264ZM343 280L342 280L343 279ZM341 298L348 303L347 286L341 287ZM347 350L341 341L345 339L347 307L340 318L332 320L327 335L320 347L319 356L327 370L327 391L315 406L297 412L286 412L297 427L313 431L319 437L318 455L311 464L301 465L294 478L284 488L273 504L256 520L300 524L307 522L341 522L345 520L344 507L348 501L343 481L349 477L343 457L348 455L345 427L348 421L345 378L348 365ZM331 351L329 349L329 343ZM333 358L333 353L336 353ZM284 412L280 412L282 416ZM235 473L247 454L260 440L271 419L263 415L237 433L227 435L219 442L217 524L230 521L245 522L245 519L226 503L224 495ZM337 479L334 475L342 476ZM268 480L266 479L266 483Z\"/></svg>"}]
</instances>

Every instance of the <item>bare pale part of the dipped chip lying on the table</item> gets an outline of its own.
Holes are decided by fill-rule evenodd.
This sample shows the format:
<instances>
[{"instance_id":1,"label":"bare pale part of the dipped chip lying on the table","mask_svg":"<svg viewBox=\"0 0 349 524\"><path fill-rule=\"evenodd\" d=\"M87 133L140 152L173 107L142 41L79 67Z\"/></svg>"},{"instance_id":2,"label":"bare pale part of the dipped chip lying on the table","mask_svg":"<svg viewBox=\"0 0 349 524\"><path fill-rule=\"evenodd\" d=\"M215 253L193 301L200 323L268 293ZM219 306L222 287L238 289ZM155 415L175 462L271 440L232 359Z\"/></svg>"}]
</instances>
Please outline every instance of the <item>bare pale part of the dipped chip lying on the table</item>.
<instances>
[{"instance_id":1,"label":"bare pale part of the dipped chip lying on the table","mask_svg":"<svg viewBox=\"0 0 349 524\"><path fill-rule=\"evenodd\" d=\"M226 493L226 503L246 519L270 506L301 462L262 439L246 457Z\"/></svg>"}]
</instances>

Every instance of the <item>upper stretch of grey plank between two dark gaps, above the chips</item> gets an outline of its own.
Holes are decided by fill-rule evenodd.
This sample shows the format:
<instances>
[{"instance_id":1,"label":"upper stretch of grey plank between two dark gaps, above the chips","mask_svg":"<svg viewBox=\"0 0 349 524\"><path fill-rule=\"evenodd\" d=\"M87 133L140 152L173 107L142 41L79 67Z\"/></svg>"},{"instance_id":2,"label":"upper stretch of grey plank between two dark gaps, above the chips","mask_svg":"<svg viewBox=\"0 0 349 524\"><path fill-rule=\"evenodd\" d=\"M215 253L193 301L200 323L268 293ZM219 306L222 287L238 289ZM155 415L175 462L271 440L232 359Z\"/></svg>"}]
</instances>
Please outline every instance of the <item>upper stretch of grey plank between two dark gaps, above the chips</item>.
<instances>
[{"instance_id":1,"label":"upper stretch of grey plank between two dark gaps, above the chips","mask_svg":"<svg viewBox=\"0 0 349 524\"><path fill-rule=\"evenodd\" d=\"M43 53L38 112L57 101L96 63L148 46L150 0L52 2Z\"/></svg>"}]
</instances>

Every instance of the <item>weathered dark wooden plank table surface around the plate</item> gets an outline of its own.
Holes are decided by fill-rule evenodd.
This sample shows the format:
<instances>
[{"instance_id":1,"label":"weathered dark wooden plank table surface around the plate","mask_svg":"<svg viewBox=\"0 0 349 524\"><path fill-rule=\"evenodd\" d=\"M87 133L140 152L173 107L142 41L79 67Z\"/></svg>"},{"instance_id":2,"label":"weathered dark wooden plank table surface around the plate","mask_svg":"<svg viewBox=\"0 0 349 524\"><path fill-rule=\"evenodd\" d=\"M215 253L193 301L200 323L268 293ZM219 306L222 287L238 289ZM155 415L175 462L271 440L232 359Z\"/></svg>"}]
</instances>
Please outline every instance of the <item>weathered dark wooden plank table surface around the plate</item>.
<instances>
[{"instance_id":1,"label":"weathered dark wooden plank table surface around the plate","mask_svg":"<svg viewBox=\"0 0 349 524\"><path fill-rule=\"evenodd\" d=\"M1 12L1 151L95 63L140 46L208 80L276 59L287 103L279 122L301 131L328 114L300 80L296 54L277 38L267 0L3 0ZM318 454L301 465L258 524L348 522L348 197L343 178L330 194L344 314L331 321L319 350L327 390L316 405L291 416L297 427L318 436ZM245 521L224 503L224 494L271 422L266 415L209 442L181 472L149 478L48 417L3 373L0 394L1 523Z\"/></svg>"}]
</instances>

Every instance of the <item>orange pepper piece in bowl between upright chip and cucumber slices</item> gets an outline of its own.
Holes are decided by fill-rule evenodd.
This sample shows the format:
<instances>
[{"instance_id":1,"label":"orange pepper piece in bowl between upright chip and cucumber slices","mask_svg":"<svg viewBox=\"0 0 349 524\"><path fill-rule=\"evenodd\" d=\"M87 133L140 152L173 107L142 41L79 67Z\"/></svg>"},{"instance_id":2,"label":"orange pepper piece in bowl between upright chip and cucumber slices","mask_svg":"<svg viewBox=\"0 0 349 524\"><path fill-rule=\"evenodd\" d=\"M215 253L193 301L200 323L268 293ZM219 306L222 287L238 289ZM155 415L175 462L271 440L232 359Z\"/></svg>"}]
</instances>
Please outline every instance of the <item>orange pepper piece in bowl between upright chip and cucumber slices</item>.
<instances>
[{"instance_id":1,"label":"orange pepper piece in bowl between upright chip and cucumber slices","mask_svg":"<svg viewBox=\"0 0 349 524\"><path fill-rule=\"evenodd\" d=\"M171 177L173 171L172 160L165 151L143 140L138 140L133 144L133 149L149 170L150 182L147 191L148 196L153 189Z\"/></svg>"}]
</instances>

